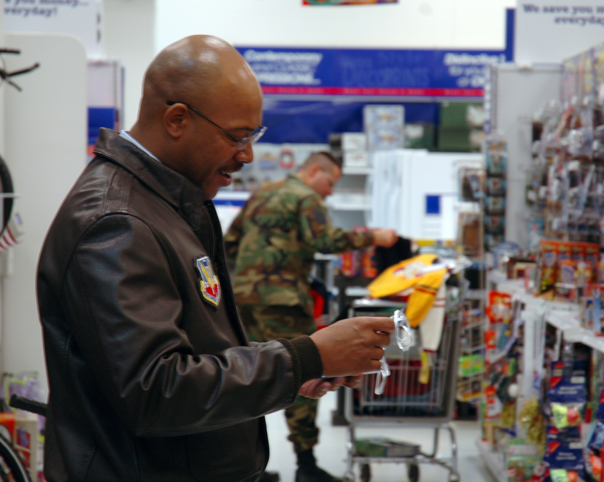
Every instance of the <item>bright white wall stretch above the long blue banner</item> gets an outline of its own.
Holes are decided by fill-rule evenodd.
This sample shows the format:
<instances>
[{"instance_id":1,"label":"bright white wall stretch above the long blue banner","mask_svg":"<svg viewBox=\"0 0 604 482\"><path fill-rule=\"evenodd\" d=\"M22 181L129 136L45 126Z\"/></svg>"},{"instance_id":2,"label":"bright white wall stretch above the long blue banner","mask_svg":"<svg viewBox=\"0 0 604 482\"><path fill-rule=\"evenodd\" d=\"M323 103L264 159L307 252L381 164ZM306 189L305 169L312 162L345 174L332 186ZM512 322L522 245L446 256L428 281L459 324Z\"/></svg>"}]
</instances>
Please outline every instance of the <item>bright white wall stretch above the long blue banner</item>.
<instances>
[{"instance_id":1,"label":"bright white wall stretch above the long blue banner","mask_svg":"<svg viewBox=\"0 0 604 482\"><path fill-rule=\"evenodd\" d=\"M515 0L399 0L311 6L302 0L156 0L156 50L213 34L235 45L503 48Z\"/></svg>"}]
</instances>

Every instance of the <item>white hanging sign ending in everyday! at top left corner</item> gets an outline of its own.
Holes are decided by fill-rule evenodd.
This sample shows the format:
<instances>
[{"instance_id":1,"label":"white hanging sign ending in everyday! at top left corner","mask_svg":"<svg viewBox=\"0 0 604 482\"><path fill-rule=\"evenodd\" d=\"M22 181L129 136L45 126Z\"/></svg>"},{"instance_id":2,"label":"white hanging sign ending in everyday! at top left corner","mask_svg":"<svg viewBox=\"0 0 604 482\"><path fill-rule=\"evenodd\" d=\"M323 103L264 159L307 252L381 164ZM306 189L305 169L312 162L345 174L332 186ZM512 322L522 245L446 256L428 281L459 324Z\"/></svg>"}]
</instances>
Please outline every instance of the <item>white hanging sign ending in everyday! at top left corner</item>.
<instances>
[{"instance_id":1,"label":"white hanging sign ending in everyday! at top left corner","mask_svg":"<svg viewBox=\"0 0 604 482\"><path fill-rule=\"evenodd\" d=\"M104 54L102 18L102 0L4 0L5 31L73 34L88 57Z\"/></svg>"}]
</instances>

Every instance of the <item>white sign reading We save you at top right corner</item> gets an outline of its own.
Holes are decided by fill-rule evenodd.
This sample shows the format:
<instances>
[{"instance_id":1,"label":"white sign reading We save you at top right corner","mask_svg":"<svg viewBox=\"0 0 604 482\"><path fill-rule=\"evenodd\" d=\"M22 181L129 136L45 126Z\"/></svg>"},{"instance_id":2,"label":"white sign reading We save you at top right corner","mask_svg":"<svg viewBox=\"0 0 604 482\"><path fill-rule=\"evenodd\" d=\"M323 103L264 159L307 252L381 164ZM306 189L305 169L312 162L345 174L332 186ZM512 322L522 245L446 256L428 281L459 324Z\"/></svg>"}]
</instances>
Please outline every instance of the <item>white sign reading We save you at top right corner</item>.
<instances>
[{"instance_id":1,"label":"white sign reading We save you at top right corner","mask_svg":"<svg viewBox=\"0 0 604 482\"><path fill-rule=\"evenodd\" d=\"M604 2L518 0L517 63L561 62L604 40Z\"/></svg>"}]
</instances>

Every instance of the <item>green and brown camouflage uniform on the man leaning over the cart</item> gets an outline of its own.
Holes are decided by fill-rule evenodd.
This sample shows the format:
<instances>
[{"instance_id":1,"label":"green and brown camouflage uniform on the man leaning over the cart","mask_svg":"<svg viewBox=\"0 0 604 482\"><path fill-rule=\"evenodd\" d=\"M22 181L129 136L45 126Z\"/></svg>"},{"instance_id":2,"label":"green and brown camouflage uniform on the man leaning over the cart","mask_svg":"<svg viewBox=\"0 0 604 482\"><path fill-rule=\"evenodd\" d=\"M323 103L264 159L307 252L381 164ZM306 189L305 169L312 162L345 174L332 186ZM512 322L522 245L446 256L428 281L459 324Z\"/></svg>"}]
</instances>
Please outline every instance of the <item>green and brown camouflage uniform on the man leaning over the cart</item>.
<instances>
[{"instance_id":1,"label":"green and brown camouflage uniform on the man leaning over the cart","mask_svg":"<svg viewBox=\"0 0 604 482\"><path fill-rule=\"evenodd\" d=\"M225 236L235 264L233 288L251 341L295 338L315 331L309 277L315 252L373 244L372 233L333 227L326 205L298 176L255 191ZM316 400L298 396L286 409L295 451L317 442Z\"/></svg>"}]
</instances>

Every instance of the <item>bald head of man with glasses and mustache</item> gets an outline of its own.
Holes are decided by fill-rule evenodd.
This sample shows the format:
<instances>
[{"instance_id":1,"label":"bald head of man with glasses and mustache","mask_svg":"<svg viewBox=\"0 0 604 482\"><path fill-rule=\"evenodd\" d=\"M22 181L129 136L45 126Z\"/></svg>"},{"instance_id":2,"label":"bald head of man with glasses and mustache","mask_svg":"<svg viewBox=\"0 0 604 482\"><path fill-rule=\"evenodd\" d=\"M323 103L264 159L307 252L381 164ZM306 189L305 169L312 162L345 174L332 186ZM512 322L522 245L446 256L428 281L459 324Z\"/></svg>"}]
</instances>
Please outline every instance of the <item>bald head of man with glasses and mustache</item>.
<instances>
[{"instance_id":1,"label":"bald head of man with glasses and mustache","mask_svg":"<svg viewBox=\"0 0 604 482\"><path fill-rule=\"evenodd\" d=\"M239 140L261 121L262 91L248 63L224 40L194 35L164 48L147 68L130 134L210 199L252 161L251 146Z\"/></svg>"}]
</instances>

